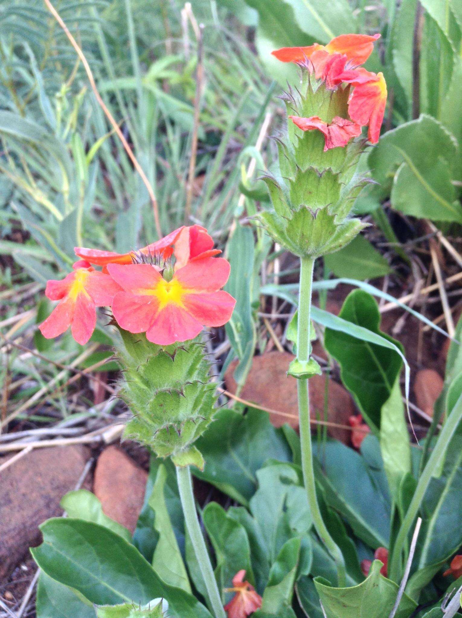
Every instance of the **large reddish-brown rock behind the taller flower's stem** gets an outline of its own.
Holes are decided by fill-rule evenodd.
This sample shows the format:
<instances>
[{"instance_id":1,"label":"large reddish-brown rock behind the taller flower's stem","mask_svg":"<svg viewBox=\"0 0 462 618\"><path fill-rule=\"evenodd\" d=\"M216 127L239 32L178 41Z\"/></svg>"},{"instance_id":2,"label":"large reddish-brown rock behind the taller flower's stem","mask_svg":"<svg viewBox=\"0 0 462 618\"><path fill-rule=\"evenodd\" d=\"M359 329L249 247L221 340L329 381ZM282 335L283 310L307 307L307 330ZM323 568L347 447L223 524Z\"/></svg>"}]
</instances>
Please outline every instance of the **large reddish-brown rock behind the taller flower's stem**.
<instances>
[{"instance_id":1,"label":"large reddish-brown rock behind the taller flower's stem","mask_svg":"<svg viewBox=\"0 0 462 618\"><path fill-rule=\"evenodd\" d=\"M242 399L280 412L270 413L270 420L275 427L289 423L294 429L298 428L297 384L295 379L286 375L293 358L288 352L268 352L254 357L246 385L241 391ZM226 388L233 394L236 392L236 381L233 378L236 365L236 361L231 363L225 374ZM325 380L324 375L310 378L311 418L324 418ZM328 421L348 426L348 418L355 413L353 400L348 392L340 384L330 380ZM328 433L349 444L350 430L329 428Z\"/></svg>"}]
</instances>

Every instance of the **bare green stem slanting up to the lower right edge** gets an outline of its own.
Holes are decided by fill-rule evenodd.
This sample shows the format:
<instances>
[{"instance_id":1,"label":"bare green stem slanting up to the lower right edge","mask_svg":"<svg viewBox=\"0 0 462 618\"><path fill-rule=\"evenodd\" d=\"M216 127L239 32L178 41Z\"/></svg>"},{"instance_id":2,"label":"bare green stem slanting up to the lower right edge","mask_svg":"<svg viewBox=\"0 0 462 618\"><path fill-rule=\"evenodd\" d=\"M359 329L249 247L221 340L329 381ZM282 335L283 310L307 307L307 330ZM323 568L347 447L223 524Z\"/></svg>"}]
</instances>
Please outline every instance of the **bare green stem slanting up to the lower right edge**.
<instances>
[{"instance_id":1,"label":"bare green stem slanting up to the lower right edge","mask_svg":"<svg viewBox=\"0 0 462 618\"><path fill-rule=\"evenodd\" d=\"M404 517L403 523L401 523L400 531L396 536L395 546L393 547L390 566L388 569L388 577L390 577L393 582L399 582L401 579L401 554L404 549L404 544L406 543L409 531L411 530L414 520L417 517L417 513L419 512L419 509L421 507L422 500L424 499L430 480L432 479L435 470L437 470L438 466L440 465L440 462L447 451L451 438L455 434L455 431L458 428L461 420L462 395L457 400L456 405L453 407L450 415L448 415L447 421L443 425L433 452L430 455L429 460L427 461L427 465L422 471L422 474L419 478L416 491L414 491L413 499L411 500L411 504L409 504L408 511L406 512L406 517Z\"/></svg>"}]
</instances>

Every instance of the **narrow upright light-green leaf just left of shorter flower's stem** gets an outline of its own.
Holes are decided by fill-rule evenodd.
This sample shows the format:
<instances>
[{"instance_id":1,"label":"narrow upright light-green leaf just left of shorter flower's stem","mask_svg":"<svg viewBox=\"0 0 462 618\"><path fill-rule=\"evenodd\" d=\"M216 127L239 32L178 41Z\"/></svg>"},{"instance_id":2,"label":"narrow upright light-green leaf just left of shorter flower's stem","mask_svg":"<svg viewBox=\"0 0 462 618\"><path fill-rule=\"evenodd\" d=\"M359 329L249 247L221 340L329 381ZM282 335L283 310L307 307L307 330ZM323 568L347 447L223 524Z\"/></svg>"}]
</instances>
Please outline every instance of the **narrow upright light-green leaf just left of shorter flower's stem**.
<instances>
[{"instance_id":1,"label":"narrow upright light-green leaf just left of shorter flower's stem","mask_svg":"<svg viewBox=\"0 0 462 618\"><path fill-rule=\"evenodd\" d=\"M149 506L155 514L154 528L159 533L152 565L155 572L160 575L164 582L190 593L191 587L186 568L184 567L165 502L164 489L166 480L166 468L164 465L160 465L149 499Z\"/></svg>"}]
</instances>

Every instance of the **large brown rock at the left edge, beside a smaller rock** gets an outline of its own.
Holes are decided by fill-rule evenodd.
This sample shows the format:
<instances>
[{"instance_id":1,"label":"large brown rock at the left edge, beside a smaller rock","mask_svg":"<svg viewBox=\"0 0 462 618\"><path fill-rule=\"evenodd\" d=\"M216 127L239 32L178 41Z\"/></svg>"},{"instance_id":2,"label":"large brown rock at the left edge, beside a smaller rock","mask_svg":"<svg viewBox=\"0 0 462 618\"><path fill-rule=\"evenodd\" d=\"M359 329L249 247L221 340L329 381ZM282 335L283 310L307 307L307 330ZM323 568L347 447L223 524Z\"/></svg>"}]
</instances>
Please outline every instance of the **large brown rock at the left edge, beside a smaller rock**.
<instances>
[{"instance_id":1,"label":"large brown rock at the left edge, beside a smaller rock","mask_svg":"<svg viewBox=\"0 0 462 618\"><path fill-rule=\"evenodd\" d=\"M40 541L38 525L62 514L90 457L80 445L35 449L0 475L0 580ZM4 460L2 460L4 461Z\"/></svg>"}]
</instances>

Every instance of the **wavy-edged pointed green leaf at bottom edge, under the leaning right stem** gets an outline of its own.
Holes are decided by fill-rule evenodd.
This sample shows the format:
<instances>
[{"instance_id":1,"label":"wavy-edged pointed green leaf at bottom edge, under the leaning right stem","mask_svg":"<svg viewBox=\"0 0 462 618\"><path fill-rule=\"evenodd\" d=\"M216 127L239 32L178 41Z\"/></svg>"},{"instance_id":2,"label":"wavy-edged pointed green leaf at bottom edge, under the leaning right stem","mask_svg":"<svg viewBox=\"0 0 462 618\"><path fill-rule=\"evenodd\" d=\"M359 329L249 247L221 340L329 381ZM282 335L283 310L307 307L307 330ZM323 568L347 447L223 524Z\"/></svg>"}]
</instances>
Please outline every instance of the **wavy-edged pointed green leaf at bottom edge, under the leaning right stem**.
<instances>
[{"instance_id":1,"label":"wavy-edged pointed green leaf at bottom edge, under the leaning right stem","mask_svg":"<svg viewBox=\"0 0 462 618\"><path fill-rule=\"evenodd\" d=\"M375 560L369 576L351 588L332 588L320 578L314 580L327 618L383 618L390 614L396 601L398 586L380 575L382 562ZM403 595L396 618L409 618L417 607Z\"/></svg>"}]
</instances>

